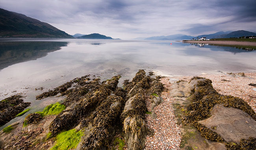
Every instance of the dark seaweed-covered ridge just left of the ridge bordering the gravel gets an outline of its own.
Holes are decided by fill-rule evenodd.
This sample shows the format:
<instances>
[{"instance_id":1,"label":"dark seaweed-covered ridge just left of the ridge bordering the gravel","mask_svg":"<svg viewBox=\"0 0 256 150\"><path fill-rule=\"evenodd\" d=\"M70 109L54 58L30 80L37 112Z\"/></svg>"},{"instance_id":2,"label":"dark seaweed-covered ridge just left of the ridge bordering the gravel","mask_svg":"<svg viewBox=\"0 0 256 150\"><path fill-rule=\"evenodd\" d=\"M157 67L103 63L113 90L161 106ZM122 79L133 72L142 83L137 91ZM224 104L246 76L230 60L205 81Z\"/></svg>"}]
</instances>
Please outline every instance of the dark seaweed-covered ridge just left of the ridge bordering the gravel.
<instances>
[{"instance_id":1,"label":"dark seaweed-covered ridge just left of the ridge bordering the gravel","mask_svg":"<svg viewBox=\"0 0 256 150\"><path fill-rule=\"evenodd\" d=\"M82 142L82 150L98 150L108 146L108 141L113 136L111 133L115 130L114 126L120 121L123 105L122 97L111 95L96 108L96 116L91 119L94 127L91 134Z\"/></svg>"}]
</instances>

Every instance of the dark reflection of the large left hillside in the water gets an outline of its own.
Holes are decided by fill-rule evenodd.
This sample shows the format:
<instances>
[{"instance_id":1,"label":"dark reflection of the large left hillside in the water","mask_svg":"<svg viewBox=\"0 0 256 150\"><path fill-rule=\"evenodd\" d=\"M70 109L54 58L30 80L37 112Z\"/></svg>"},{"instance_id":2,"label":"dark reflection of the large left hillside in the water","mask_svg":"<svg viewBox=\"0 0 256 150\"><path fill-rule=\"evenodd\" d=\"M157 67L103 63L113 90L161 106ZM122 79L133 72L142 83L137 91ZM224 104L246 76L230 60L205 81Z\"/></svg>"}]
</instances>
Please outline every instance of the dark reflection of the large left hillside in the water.
<instances>
[{"instance_id":1,"label":"dark reflection of the large left hillside in the water","mask_svg":"<svg viewBox=\"0 0 256 150\"><path fill-rule=\"evenodd\" d=\"M68 42L0 42L0 70L57 51Z\"/></svg>"}]
</instances>

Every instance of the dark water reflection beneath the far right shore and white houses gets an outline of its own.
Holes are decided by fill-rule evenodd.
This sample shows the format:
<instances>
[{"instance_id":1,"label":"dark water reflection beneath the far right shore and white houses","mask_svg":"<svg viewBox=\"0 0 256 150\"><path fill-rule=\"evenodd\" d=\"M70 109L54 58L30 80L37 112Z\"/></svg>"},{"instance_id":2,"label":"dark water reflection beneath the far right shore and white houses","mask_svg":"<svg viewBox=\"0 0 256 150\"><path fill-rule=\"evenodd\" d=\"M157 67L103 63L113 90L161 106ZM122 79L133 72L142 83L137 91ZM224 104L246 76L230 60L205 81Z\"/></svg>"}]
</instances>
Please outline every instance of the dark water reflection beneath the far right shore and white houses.
<instances>
[{"instance_id":1,"label":"dark water reflection beneath the far right shore and white houses","mask_svg":"<svg viewBox=\"0 0 256 150\"><path fill-rule=\"evenodd\" d=\"M256 50L256 46L241 46L241 45L220 45L220 44L205 44L205 43L191 43L191 45L210 48L213 51L229 51L234 54L236 53L244 53L244 52L252 52ZM212 46L216 46L213 49ZM218 49L219 48L219 49Z\"/></svg>"}]
</instances>

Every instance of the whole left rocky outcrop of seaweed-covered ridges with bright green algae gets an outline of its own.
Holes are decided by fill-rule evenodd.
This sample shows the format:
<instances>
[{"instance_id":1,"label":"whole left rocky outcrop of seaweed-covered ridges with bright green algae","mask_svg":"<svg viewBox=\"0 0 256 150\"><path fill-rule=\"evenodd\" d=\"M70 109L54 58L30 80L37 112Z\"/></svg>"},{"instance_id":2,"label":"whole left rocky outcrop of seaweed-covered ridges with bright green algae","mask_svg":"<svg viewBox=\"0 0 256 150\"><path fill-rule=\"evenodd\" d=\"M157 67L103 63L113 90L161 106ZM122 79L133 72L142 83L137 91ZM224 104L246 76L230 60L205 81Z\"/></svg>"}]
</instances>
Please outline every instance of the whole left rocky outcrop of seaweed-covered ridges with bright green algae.
<instances>
[{"instance_id":1,"label":"whole left rocky outcrop of seaweed-covered ridges with bright green algae","mask_svg":"<svg viewBox=\"0 0 256 150\"><path fill-rule=\"evenodd\" d=\"M59 140L78 140L78 145L72 149L115 149L119 142L128 150L143 149L145 136L152 134L145 122L145 113L148 111L145 100L151 99L152 108L160 104L163 101L163 84L158 79L146 76L144 70L139 70L132 81L126 80L124 88L117 87L119 78L114 76L100 83L99 79L91 80L83 76L37 96L43 99L58 93L66 95L63 101L55 104L62 105L61 108L65 110L59 111L58 115L48 115L45 112L47 106L43 112L27 115L24 126L28 127L11 139L18 144L12 148L12 145L4 143L4 147L44 149L48 143L47 148L56 148L63 142ZM35 135L26 136L25 132ZM78 132L82 133L81 137L62 137ZM58 145L53 145L54 140Z\"/></svg>"}]
</instances>

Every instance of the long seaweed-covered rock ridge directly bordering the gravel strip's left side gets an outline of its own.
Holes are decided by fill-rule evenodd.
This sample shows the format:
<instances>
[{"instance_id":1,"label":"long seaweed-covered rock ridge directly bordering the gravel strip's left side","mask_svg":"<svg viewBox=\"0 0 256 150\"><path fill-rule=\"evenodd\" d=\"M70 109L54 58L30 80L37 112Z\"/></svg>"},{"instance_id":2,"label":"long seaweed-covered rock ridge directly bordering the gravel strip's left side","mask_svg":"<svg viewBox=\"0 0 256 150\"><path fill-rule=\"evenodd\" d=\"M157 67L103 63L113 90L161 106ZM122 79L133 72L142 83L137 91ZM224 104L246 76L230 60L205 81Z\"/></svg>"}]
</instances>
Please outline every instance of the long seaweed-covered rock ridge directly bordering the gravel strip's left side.
<instances>
[{"instance_id":1,"label":"long seaweed-covered rock ridge directly bordering the gravel strip's left side","mask_svg":"<svg viewBox=\"0 0 256 150\"><path fill-rule=\"evenodd\" d=\"M144 70L139 70L131 82L126 81L124 84L128 94L121 121L128 150L145 148L145 136L150 134L145 123L145 99L152 93L160 95L163 90L163 84L145 74Z\"/></svg>"}]
</instances>

